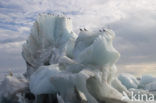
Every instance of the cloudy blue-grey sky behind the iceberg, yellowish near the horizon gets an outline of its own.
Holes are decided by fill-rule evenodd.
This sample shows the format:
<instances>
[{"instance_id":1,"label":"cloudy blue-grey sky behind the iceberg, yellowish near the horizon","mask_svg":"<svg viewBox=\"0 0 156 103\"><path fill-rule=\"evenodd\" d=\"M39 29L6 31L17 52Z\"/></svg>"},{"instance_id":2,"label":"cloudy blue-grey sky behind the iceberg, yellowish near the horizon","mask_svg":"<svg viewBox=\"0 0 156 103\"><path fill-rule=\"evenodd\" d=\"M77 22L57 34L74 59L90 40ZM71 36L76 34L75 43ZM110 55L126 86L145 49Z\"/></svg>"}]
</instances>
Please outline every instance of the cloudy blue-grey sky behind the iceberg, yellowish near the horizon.
<instances>
[{"instance_id":1,"label":"cloudy blue-grey sky behind the iceberg, yellowish near the horizon","mask_svg":"<svg viewBox=\"0 0 156 103\"><path fill-rule=\"evenodd\" d=\"M119 71L156 75L156 0L0 0L0 73L26 70L22 45L39 13L65 14L76 33L112 29Z\"/></svg>"}]
</instances>

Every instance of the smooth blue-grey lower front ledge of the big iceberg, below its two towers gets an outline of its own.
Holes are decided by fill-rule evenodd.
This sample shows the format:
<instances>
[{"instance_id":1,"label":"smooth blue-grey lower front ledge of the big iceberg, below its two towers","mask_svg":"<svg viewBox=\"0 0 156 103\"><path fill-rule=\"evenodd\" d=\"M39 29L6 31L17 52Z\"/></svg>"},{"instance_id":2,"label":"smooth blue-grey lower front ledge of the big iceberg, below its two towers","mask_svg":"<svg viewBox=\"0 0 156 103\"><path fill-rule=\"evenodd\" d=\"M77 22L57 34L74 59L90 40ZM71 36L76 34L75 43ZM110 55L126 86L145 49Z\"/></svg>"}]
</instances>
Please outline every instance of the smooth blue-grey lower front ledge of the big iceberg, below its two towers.
<instances>
[{"instance_id":1,"label":"smooth blue-grey lower front ledge of the big iceberg, below its two towers","mask_svg":"<svg viewBox=\"0 0 156 103\"><path fill-rule=\"evenodd\" d=\"M36 95L59 92L65 102L70 101L75 103L74 87L77 87L85 92L90 103L96 103L96 100L86 89L86 79L89 77L90 73L87 73L87 71L81 71L77 74L61 72L58 66L53 64L40 67L32 74L30 78L30 90Z\"/></svg>"}]
</instances>

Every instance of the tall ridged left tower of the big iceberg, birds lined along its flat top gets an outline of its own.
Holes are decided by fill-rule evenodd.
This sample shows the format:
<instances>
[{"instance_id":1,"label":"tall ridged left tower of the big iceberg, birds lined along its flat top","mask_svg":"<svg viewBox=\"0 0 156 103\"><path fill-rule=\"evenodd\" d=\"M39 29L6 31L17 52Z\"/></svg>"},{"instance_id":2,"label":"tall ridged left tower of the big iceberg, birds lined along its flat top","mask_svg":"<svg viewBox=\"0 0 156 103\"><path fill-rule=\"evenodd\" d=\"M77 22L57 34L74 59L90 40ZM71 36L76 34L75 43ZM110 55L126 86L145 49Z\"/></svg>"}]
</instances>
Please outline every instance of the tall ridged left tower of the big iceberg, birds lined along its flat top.
<instances>
[{"instance_id":1,"label":"tall ridged left tower of the big iceberg, birds lined along its flat top","mask_svg":"<svg viewBox=\"0 0 156 103\"><path fill-rule=\"evenodd\" d=\"M76 37L69 18L44 14L39 16L33 24L29 39L23 45L27 76L39 66L56 63L64 54L72 57Z\"/></svg>"}]
</instances>

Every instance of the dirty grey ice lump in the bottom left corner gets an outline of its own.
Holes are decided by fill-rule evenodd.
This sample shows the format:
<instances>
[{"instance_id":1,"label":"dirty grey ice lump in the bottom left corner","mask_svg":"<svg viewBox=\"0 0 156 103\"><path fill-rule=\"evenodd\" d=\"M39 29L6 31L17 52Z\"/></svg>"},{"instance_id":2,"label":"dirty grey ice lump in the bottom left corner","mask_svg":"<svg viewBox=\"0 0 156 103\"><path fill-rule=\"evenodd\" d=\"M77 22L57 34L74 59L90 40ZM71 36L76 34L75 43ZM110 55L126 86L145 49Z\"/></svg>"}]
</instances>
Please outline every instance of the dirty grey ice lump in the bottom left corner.
<instances>
[{"instance_id":1,"label":"dirty grey ice lump in the bottom left corner","mask_svg":"<svg viewBox=\"0 0 156 103\"><path fill-rule=\"evenodd\" d=\"M28 88L28 81L23 76L7 75L0 84L0 103L18 101L17 94L23 92L25 88Z\"/></svg>"}]
</instances>

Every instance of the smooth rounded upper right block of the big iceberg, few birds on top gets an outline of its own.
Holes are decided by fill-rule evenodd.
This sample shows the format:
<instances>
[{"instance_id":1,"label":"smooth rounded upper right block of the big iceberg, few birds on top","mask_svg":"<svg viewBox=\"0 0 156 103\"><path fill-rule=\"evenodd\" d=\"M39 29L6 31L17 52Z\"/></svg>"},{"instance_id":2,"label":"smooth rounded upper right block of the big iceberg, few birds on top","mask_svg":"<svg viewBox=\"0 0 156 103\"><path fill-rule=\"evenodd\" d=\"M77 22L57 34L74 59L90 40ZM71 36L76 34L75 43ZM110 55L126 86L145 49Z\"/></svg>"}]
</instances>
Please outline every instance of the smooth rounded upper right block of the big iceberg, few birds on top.
<instances>
[{"instance_id":1,"label":"smooth rounded upper right block of the big iceberg, few birds on top","mask_svg":"<svg viewBox=\"0 0 156 103\"><path fill-rule=\"evenodd\" d=\"M119 53L112 46L114 32L80 32L76 40L74 56L79 63L112 65L119 58Z\"/></svg>"}]
</instances>

